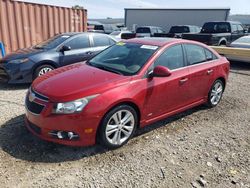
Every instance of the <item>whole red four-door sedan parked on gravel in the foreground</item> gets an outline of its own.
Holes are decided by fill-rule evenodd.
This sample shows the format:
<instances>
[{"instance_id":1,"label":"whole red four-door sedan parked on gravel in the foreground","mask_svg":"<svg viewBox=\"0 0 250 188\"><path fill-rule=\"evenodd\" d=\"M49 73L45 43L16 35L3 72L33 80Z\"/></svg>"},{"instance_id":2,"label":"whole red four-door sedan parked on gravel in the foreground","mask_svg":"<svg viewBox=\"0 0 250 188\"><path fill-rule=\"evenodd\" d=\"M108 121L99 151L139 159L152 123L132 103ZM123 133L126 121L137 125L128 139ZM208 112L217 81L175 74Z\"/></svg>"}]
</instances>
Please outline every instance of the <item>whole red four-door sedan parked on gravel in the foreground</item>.
<instances>
[{"instance_id":1,"label":"whole red four-door sedan parked on gravel in the foreground","mask_svg":"<svg viewBox=\"0 0 250 188\"><path fill-rule=\"evenodd\" d=\"M26 125L44 140L117 148L139 127L204 103L216 106L228 74L227 59L198 42L119 42L37 78L26 97Z\"/></svg>"}]
</instances>

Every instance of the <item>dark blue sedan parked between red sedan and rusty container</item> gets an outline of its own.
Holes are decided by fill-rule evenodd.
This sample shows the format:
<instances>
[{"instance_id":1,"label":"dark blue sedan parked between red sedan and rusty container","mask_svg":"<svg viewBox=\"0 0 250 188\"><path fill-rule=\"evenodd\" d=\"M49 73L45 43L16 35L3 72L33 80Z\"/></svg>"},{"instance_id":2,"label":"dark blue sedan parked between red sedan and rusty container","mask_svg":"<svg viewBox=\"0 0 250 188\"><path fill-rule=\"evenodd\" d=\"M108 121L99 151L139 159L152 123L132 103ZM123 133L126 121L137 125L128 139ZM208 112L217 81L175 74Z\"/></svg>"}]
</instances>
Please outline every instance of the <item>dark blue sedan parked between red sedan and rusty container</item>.
<instances>
[{"instance_id":1,"label":"dark blue sedan parked between red sedan and rusty container","mask_svg":"<svg viewBox=\"0 0 250 188\"><path fill-rule=\"evenodd\" d=\"M0 81L31 83L55 68L85 61L115 44L116 40L99 33L64 33L31 48L20 49L0 60Z\"/></svg>"}]
</instances>

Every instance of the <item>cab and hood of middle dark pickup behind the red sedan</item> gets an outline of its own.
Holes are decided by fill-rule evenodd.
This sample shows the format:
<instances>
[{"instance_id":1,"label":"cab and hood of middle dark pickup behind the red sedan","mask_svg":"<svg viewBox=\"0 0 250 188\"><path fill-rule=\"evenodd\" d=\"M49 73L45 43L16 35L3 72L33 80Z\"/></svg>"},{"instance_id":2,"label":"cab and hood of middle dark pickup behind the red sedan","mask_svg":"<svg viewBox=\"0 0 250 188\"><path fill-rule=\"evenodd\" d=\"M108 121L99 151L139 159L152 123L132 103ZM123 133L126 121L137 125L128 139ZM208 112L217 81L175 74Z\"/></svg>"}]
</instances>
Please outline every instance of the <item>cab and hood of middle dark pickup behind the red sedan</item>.
<instances>
[{"instance_id":1,"label":"cab and hood of middle dark pickup behind the red sedan","mask_svg":"<svg viewBox=\"0 0 250 188\"><path fill-rule=\"evenodd\" d=\"M172 26L166 37L182 38L183 33L199 33L201 28L195 25L175 25Z\"/></svg>"}]
</instances>

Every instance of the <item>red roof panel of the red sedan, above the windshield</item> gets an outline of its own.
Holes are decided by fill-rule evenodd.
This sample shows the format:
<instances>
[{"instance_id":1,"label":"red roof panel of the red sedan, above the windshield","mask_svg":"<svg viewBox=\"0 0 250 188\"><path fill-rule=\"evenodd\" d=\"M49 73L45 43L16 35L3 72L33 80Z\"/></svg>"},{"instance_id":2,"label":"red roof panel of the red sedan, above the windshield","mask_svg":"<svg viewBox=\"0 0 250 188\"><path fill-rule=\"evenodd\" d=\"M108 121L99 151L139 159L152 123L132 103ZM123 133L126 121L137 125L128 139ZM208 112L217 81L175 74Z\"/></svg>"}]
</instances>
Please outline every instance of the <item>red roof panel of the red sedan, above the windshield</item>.
<instances>
[{"instance_id":1,"label":"red roof panel of the red sedan, above the windshield","mask_svg":"<svg viewBox=\"0 0 250 188\"><path fill-rule=\"evenodd\" d=\"M130 43L138 43L144 45L154 45L154 46L164 46L166 44L178 42L178 41L185 41L183 39L176 39L176 38L163 38L163 37L144 37L144 38L133 38L126 40L125 42Z\"/></svg>"}]
</instances>

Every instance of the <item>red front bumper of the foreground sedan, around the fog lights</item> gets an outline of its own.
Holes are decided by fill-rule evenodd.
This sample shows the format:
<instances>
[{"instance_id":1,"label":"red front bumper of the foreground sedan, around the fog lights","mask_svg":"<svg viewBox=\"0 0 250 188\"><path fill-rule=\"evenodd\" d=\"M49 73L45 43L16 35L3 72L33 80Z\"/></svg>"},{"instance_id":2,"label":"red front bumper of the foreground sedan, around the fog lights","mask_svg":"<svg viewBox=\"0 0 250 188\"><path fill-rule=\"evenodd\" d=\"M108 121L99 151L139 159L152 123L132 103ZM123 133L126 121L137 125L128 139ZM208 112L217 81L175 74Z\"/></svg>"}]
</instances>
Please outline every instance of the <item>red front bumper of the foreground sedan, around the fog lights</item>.
<instances>
[{"instance_id":1,"label":"red front bumper of the foreground sedan, around the fog lights","mask_svg":"<svg viewBox=\"0 0 250 188\"><path fill-rule=\"evenodd\" d=\"M96 132L100 118L90 114L84 115L83 113L70 115L51 114L53 103L35 98L34 103L44 106L41 113L37 114L28 109L30 108L27 104L28 96L29 93L25 102L25 124L34 135L43 140L70 146L90 146L96 143ZM51 134L55 131L74 132L79 137L72 140L60 139Z\"/></svg>"}]
</instances>

